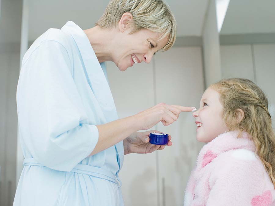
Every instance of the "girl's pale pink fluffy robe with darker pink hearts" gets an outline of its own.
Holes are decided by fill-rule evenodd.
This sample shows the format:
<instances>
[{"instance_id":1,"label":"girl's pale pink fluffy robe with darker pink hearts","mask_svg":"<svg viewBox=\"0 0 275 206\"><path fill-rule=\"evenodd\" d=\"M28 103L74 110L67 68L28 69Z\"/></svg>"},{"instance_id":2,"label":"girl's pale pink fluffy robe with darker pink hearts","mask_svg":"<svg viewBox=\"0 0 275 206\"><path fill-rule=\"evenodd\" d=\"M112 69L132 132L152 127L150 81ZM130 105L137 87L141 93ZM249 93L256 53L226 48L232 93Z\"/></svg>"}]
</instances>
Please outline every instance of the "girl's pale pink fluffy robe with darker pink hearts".
<instances>
[{"instance_id":1,"label":"girl's pale pink fluffy robe with darker pink hearts","mask_svg":"<svg viewBox=\"0 0 275 206\"><path fill-rule=\"evenodd\" d=\"M274 186L246 132L219 135L204 145L187 183L185 206L271 206Z\"/></svg>"}]
</instances>

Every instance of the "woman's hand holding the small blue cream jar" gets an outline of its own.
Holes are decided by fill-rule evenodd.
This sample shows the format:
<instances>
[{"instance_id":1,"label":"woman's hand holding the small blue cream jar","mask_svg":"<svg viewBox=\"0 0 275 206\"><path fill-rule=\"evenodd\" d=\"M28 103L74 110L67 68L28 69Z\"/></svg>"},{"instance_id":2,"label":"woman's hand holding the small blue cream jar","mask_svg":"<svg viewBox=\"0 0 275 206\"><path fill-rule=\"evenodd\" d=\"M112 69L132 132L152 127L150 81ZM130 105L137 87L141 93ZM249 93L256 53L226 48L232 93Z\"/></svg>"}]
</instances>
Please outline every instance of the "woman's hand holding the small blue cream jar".
<instances>
[{"instance_id":1,"label":"woman's hand holding the small blue cream jar","mask_svg":"<svg viewBox=\"0 0 275 206\"><path fill-rule=\"evenodd\" d=\"M151 132L156 133L163 133L156 130L146 131L146 132L134 132L129 137L123 140L123 146L124 146L124 155L130 154L130 153L138 153L138 154L146 154L151 153L156 150L163 150L165 148L165 145L155 145L149 143L149 135ZM172 142L171 136L169 136L169 141L167 143L167 146L171 146Z\"/></svg>"}]
</instances>

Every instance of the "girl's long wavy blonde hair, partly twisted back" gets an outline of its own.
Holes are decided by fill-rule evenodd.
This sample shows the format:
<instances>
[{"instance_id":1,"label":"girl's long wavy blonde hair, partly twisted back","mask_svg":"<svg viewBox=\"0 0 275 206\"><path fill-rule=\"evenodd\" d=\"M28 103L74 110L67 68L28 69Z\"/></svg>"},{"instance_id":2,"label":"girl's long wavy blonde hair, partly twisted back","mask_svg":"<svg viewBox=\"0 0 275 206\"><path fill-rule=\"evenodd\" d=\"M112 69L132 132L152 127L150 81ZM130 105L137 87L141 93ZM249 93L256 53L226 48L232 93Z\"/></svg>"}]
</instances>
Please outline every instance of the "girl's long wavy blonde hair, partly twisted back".
<instances>
[{"instance_id":1,"label":"girl's long wavy blonde hair, partly twisted back","mask_svg":"<svg viewBox=\"0 0 275 206\"><path fill-rule=\"evenodd\" d=\"M255 83L243 78L223 79L210 87L220 94L223 119L229 130L245 131L251 135L256 154L275 189L275 133L265 93ZM244 111L240 122L237 121L238 109Z\"/></svg>"}]
</instances>

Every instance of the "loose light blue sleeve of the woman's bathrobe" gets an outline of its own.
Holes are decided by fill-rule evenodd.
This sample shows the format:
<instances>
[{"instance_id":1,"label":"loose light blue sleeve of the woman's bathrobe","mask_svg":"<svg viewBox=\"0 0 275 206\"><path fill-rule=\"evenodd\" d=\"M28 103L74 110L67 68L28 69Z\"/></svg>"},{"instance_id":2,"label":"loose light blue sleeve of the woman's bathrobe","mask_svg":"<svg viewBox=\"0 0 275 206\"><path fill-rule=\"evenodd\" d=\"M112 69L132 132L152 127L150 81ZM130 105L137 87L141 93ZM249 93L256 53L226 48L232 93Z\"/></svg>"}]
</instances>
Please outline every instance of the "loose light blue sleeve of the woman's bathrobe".
<instances>
[{"instance_id":1,"label":"loose light blue sleeve of the woman's bathrobe","mask_svg":"<svg viewBox=\"0 0 275 206\"><path fill-rule=\"evenodd\" d=\"M95 148L98 130L88 124L62 44L45 40L24 57L17 87L20 135L42 165L71 171Z\"/></svg>"}]
</instances>

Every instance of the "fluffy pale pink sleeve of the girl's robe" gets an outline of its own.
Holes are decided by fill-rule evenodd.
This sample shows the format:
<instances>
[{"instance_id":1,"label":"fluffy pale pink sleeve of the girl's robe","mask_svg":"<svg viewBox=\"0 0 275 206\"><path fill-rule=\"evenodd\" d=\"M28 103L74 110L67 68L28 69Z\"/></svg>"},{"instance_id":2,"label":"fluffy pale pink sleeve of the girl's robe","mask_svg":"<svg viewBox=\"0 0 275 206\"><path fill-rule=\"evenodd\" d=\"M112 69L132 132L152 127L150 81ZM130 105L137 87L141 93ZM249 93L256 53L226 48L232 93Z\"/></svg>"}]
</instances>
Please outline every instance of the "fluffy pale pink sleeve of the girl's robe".
<instances>
[{"instance_id":1,"label":"fluffy pale pink sleeve of the girl's robe","mask_svg":"<svg viewBox=\"0 0 275 206\"><path fill-rule=\"evenodd\" d=\"M207 206L251 205L258 195L262 195L264 168L254 153L250 153L251 158L247 159L225 155L219 160L209 179L211 191Z\"/></svg>"}]
</instances>

